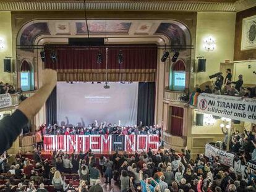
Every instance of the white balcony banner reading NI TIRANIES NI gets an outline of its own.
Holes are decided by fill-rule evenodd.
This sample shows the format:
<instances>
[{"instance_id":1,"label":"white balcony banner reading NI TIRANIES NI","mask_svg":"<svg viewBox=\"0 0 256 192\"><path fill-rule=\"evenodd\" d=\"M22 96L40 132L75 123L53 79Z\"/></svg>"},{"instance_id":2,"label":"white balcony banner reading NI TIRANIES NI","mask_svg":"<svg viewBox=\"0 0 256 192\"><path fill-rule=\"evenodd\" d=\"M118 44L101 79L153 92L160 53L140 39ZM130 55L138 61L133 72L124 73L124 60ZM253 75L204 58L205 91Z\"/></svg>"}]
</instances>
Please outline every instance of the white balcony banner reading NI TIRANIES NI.
<instances>
[{"instance_id":1,"label":"white balcony banner reading NI TIRANIES NI","mask_svg":"<svg viewBox=\"0 0 256 192\"><path fill-rule=\"evenodd\" d=\"M256 99L202 93L198 111L244 122L256 123Z\"/></svg>"}]
</instances>

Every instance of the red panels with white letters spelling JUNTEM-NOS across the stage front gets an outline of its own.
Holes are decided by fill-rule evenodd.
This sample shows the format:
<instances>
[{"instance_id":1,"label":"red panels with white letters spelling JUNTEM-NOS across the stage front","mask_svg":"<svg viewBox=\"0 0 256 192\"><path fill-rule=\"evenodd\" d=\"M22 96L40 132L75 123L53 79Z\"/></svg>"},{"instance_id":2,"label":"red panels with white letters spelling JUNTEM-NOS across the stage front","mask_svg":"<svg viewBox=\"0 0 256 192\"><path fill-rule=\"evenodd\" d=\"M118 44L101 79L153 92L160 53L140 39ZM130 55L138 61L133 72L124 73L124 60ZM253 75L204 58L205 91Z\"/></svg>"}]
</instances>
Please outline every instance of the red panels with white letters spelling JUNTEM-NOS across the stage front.
<instances>
[{"instance_id":1,"label":"red panels with white letters spelling JUNTEM-NOS across the stage front","mask_svg":"<svg viewBox=\"0 0 256 192\"><path fill-rule=\"evenodd\" d=\"M124 138L124 151L157 151L159 146L158 135L120 135ZM64 152L114 151L113 135L45 135L45 151L62 150Z\"/></svg>"}]
</instances>

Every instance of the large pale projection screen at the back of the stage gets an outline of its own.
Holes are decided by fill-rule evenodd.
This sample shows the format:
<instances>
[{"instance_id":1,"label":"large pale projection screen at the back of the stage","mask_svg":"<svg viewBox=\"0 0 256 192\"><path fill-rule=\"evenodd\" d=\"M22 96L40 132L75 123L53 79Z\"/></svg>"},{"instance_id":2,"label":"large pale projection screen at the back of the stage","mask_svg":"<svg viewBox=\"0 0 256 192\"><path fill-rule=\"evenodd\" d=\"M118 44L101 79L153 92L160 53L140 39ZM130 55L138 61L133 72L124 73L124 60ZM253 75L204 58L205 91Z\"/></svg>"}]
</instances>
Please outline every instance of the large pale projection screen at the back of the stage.
<instances>
[{"instance_id":1,"label":"large pale projection screen at the back of the stage","mask_svg":"<svg viewBox=\"0 0 256 192\"><path fill-rule=\"evenodd\" d=\"M59 124L83 126L94 123L137 123L138 83L57 83L57 120Z\"/></svg>"}]
</instances>

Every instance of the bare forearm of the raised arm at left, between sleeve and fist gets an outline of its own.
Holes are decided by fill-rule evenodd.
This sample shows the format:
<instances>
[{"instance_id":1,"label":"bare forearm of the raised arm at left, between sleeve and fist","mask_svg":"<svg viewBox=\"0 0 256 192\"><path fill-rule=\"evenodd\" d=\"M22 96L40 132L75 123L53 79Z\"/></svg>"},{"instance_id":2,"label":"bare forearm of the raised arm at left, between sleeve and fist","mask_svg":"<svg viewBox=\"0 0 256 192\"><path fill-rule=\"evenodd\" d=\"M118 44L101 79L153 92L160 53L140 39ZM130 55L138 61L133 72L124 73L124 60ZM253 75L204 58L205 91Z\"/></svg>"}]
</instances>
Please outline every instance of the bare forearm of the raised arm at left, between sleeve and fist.
<instances>
[{"instance_id":1,"label":"bare forearm of the raised arm at left, between sleeve and fist","mask_svg":"<svg viewBox=\"0 0 256 192\"><path fill-rule=\"evenodd\" d=\"M32 119L45 104L55 85L56 83L43 85L32 97L22 101L18 109L22 111L28 119Z\"/></svg>"}]
</instances>

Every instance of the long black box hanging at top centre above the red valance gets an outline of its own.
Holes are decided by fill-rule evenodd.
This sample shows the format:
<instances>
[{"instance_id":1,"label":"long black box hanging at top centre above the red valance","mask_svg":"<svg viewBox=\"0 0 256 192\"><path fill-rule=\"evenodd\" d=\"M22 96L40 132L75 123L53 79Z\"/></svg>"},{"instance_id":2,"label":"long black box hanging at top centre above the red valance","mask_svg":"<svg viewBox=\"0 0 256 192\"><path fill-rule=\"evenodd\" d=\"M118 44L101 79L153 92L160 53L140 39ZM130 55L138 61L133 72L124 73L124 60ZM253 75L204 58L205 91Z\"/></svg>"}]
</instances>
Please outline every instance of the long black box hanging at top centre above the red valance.
<instances>
[{"instance_id":1,"label":"long black box hanging at top centre above the red valance","mask_svg":"<svg viewBox=\"0 0 256 192\"><path fill-rule=\"evenodd\" d=\"M103 46L104 38L69 38L69 45L74 46Z\"/></svg>"}]
</instances>

